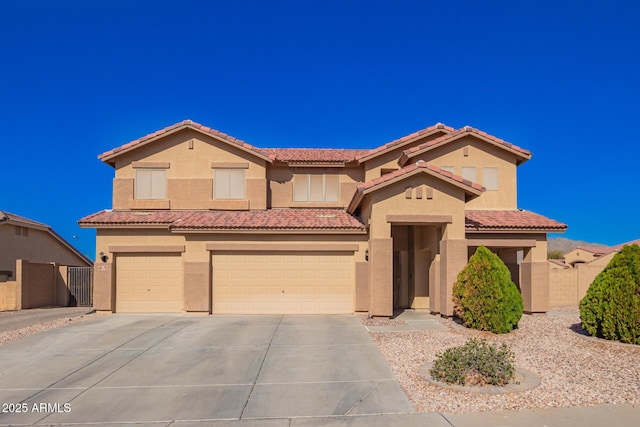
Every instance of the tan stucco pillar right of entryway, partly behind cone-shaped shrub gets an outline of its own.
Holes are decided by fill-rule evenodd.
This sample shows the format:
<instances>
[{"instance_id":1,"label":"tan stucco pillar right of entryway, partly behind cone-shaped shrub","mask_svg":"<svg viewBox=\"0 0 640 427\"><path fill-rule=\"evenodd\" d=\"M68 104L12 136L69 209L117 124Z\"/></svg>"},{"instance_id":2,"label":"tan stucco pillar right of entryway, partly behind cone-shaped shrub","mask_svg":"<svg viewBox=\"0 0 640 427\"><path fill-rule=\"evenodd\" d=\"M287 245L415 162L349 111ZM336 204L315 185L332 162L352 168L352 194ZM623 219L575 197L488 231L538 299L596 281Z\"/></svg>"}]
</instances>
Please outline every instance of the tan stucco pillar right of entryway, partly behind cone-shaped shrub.
<instances>
[{"instance_id":1,"label":"tan stucco pillar right of entryway, partly behind cone-shaped shrub","mask_svg":"<svg viewBox=\"0 0 640 427\"><path fill-rule=\"evenodd\" d=\"M453 316L453 284L467 265L466 239L444 239L440 243L440 313Z\"/></svg>"}]
</instances>

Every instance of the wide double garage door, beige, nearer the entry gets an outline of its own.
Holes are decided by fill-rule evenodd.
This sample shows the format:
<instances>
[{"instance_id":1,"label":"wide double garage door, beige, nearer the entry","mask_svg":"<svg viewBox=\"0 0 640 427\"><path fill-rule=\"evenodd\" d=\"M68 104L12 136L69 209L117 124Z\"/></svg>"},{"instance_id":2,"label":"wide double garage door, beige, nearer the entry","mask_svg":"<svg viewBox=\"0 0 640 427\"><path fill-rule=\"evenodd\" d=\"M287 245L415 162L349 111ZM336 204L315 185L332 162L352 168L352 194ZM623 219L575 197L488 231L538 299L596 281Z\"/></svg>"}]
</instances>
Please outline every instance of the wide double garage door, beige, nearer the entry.
<instances>
[{"instance_id":1,"label":"wide double garage door, beige, nearer the entry","mask_svg":"<svg viewBox=\"0 0 640 427\"><path fill-rule=\"evenodd\" d=\"M353 253L214 253L213 311L353 313Z\"/></svg>"}]
</instances>

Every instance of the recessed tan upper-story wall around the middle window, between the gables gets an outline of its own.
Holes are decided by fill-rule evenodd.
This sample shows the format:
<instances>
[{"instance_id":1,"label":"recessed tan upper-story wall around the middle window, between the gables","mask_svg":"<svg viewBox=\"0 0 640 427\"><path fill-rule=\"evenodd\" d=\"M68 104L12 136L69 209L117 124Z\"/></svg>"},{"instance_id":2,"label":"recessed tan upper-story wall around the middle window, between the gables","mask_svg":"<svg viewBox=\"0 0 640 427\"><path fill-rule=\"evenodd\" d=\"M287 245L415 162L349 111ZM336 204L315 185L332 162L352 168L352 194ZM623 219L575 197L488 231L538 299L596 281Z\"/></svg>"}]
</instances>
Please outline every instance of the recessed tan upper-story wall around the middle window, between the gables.
<instances>
[{"instance_id":1,"label":"recessed tan upper-story wall around the middle window, between the gables","mask_svg":"<svg viewBox=\"0 0 640 427\"><path fill-rule=\"evenodd\" d=\"M340 177L340 194L337 202L294 202L293 178L295 175L327 174ZM272 208L345 208L353 198L358 183L364 179L362 169L355 167L323 168L323 167L295 167L285 164L270 165L267 168L269 181L269 202Z\"/></svg>"}]
</instances>

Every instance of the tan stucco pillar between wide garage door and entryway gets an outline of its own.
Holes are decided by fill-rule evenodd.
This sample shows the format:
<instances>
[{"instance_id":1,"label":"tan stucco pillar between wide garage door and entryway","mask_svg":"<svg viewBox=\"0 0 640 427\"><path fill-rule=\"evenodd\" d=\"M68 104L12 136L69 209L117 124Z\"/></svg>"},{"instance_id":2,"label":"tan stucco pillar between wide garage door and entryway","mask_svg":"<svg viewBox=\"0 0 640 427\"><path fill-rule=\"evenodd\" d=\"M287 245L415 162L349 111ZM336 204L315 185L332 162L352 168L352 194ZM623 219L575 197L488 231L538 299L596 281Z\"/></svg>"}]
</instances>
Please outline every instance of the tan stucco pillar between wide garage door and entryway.
<instances>
[{"instance_id":1,"label":"tan stucco pillar between wide garage door and entryway","mask_svg":"<svg viewBox=\"0 0 640 427\"><path fill-rule=\"evenodd\" d=\"M372 316L393 316L393 239L371 239L369 243Z\"/></svg>"}]
</instances>

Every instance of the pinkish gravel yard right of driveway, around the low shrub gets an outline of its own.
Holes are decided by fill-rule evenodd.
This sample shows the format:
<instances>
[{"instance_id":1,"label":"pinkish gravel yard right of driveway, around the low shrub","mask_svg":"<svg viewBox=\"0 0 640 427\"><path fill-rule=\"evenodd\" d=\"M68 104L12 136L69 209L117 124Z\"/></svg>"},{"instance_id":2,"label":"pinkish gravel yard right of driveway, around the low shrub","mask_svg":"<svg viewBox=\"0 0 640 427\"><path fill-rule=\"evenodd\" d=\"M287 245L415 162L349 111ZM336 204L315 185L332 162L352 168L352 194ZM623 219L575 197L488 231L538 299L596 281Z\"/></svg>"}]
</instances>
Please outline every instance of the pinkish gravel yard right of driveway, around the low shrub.
<instances>
[{"instance_id":1,"label":"pinkish gravel yard right of driveway, around the low shrub","mask_svg":"<svg viewBox=\"0 0 640 427\"><path fill-rule=\"evenodd\" d=\"M621 345L581 335L577 307L524 315L519 328L494 335L466 329L437 317L446 331L371 332L416 411L466 413L525 408L640 403L640 346ZM478 394L455 391L424 380L418 370L436 353L477 337L507 342L515 365L540 377L540 385L520 393Z\"/></svg>"}]
</instances>

